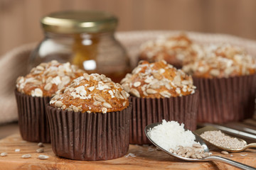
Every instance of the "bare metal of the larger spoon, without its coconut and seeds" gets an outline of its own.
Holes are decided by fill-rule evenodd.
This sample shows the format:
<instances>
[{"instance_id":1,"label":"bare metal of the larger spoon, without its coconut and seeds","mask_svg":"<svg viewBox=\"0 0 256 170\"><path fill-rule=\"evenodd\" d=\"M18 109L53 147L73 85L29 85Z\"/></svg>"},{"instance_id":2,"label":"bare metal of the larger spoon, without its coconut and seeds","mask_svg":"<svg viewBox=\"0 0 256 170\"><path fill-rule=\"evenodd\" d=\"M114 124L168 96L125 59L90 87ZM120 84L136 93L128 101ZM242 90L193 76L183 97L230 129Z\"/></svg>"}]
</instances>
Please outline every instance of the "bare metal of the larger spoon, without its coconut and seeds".
<instances>
[{"instance_id":1,"label":"bare metal of the larger spoon, without its coconut and seeds","mask_svg":"<svg viewBox=\"0 0 256 170\"><path fill-rule=\"evenodd\" d=\"M240 168L240 169L253 169L253 170L255 170L255 168L252 167L252 166L248 166L246 164L241 164L240 162L235 162L235 161L227 159L225 157L210 156L210 157L205 157L205 158L202 158L202 159L192 159L192 158L181 157L178 154L173 154L173 153L169 152L168 150L166 150L166 149L160 147L159 145L157 145L154 142L154 140L151 140L151 137L149 137L149 135L148 135L149 130L151 130L152 128L154 128L157 125L161 125L161 123L152 123L151 125L147 125L146 128L144 129L144 132L146 134L146 137L152 142L152 144L155 145L156 147L158 147L159 149L161 149L162 151L166 152L166 154L170 154L173 157L176 157L178 159L182 159L182 160L188 161L188 162L219 161L219 162L223 162L225 164L229 164L231 166L235 166L235 167ZM208 149L206 143L203 142L203 139L200 136L196 135L195 133L193 133L193 134L196 136L196 142L199 142L203 146L205 152L209 152L209 149Z\"/></svg>"}]
</instances>

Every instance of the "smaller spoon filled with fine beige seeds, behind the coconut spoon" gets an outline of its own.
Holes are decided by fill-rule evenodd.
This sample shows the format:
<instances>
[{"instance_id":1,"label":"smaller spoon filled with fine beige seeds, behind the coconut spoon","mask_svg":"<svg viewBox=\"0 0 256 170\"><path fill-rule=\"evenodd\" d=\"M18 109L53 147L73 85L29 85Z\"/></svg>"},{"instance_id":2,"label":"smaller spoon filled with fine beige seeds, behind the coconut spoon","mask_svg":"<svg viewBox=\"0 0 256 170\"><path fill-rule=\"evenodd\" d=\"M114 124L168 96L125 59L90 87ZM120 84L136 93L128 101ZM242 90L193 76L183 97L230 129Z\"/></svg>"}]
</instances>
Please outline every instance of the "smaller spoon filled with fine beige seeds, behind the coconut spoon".
<instances>
[{"instance_id":1,"label":"smaller spoon filled with fine beige seeds, behind the coconut spoon","mask_svg":"<svg viewBox=\"0 0 256 170\"><path fill-rule=\"evenodd\" d=\"M195 132L197 135L200 135L205 142L208 142L210 145L228 152L242 152L250 147L256 148L256 143L250 143L247 145L245 140L238 137L231 137L230 135L227 135L221 130L212 126L200 128Z\"/></svg>"}]
</instances>

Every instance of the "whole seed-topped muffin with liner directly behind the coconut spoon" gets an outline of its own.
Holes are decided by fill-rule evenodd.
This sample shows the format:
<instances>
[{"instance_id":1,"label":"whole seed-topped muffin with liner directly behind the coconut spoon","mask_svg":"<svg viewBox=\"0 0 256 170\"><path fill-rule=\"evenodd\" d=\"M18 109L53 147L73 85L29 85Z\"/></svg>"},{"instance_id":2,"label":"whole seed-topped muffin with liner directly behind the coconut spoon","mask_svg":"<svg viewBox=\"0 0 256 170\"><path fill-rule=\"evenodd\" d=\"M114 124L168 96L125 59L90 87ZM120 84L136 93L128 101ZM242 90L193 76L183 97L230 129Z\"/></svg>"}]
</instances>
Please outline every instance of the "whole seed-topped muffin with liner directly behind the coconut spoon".
<instances>
[{"instance_id":1,"label":"whole seed-topped muffin with liner directly behind the coconut spoon","mask_svg":"<svg viewBox=\"0 0 256 170\"><path fill-rule=\"evenodd\" d=\"M131 144L150 144L144 128L163 119L176 120L184 123L185 128L196 130L198 93L192 78L181 69L164 60L151 64L141 61L121 84L131 94Z\"/></svg>"}]
</instances>

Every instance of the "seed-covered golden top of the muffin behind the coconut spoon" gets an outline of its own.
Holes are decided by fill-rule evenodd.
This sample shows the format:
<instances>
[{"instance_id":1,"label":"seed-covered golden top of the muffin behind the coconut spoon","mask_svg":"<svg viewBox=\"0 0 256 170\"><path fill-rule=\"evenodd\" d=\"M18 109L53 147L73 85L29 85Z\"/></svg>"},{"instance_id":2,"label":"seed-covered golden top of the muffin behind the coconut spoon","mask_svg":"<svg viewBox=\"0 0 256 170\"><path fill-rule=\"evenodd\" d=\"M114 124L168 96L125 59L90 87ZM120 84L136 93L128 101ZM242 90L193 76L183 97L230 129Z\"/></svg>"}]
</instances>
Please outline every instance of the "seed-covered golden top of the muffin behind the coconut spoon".
<instances>
[{"instance_id":1,"label":"seed-covered golden top of the muffin behind the coconut spoon","mask_svg":"<svg viewBox=\"0 0 256 170\"><path fill-rule=\"evenodd\" d=\"M196 89L191 76L164 60L151 64L139 62L132 74L122 79L121 84L125 91L141 98L186 96L195 93Z\"/></svg>"}]
</instances>

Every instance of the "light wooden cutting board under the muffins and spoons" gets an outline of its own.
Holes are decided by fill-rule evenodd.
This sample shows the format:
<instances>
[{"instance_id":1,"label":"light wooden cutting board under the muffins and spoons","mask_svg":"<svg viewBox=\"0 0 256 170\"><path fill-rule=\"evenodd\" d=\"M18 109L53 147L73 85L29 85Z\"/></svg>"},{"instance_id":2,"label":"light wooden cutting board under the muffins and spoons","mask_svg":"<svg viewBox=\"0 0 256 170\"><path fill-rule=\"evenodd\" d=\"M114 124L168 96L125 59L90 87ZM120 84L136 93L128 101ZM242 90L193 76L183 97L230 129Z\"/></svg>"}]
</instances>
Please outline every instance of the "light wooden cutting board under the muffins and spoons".
<instances>
[{"instance_id":1,"label":"light wooden cutting board under the muffins and spoons","mask_svg":"<svg viewBox=\"0 0 256 170\"><path fill-rule=\"evenodd\" d=\"M21 149L15 152L15 149ZM108 161L74 161L56 157L51 150L50 144L45 144L45 152L49 158L38 159L37 143L26 142L19 134L11 135L0 140L0 152L7 152L6 157L0 157L0 169L235 169L220 162L183 162L156 150L153 146L130 145L129 152L125 157ZM129 153L135 157L128 156ZM31 154L31 158L23 159L21 155ZM246 152L233 153L232 155L220 154L213 151L214 155L221 155L228 159L256 167L256 149L247 149Z\"/></svg>"}]
</instances>

